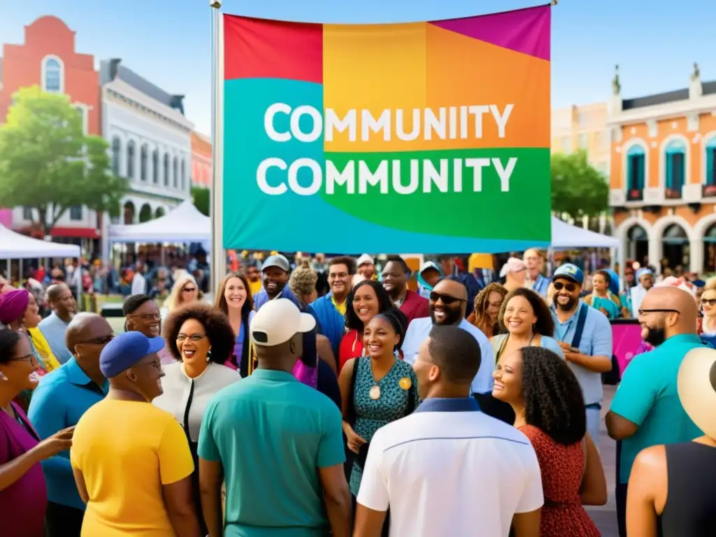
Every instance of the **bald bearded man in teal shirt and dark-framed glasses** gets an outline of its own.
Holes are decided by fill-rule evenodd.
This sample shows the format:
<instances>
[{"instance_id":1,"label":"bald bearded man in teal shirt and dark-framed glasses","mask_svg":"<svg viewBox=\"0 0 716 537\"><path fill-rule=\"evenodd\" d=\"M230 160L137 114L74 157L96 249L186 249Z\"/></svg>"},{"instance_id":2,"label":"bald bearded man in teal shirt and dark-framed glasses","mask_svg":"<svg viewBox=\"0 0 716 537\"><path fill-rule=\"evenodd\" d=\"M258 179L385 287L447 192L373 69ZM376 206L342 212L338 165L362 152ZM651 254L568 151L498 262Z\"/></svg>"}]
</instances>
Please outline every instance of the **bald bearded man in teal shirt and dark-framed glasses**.
<instances>
[{"instance_id":1,"label":"bald bearded man in teal shirt and dark-framed glasses","mask_svg":"<svg viewBox=\"0 0 716 537\"><path fill-rule=\"evenodd\" d=\"M609 436L621 441L616 452L620 536L627 534L627 483L639 451L652 445L690 442L702 435L684 412L677 393L684 356L704 345L696 334L697 314L693 296L672 286L651 289L639 309L642 338L656 348L629 362L606 415Z\"/></svg>"}]
</instances>

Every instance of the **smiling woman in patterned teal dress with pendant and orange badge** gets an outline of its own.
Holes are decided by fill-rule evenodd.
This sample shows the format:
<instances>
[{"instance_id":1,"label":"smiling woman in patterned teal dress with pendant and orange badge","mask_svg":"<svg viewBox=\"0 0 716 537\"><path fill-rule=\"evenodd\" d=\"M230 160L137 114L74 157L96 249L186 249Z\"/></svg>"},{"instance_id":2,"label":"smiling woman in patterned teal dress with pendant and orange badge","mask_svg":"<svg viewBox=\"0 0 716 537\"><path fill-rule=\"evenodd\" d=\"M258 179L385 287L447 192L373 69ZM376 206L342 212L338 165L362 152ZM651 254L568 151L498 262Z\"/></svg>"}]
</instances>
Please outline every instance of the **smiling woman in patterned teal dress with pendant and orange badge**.
<instances>
[{"instance_id":1,"label":"smiling woman in patterned teal dress with pendant and orange badge","mask_svg":"<svg viewBox=\"0 0 716 537\"><path fill-rule=\"evenodd\" d=\"M370 439L383 425L410 414L418 402L415 372L397 353L406 328L407 317L395 307L377 314L363 331L367 356L349 359L341 370L343 430L356 455L349 483L354 498Z\"/></svg>"}]
</instances>

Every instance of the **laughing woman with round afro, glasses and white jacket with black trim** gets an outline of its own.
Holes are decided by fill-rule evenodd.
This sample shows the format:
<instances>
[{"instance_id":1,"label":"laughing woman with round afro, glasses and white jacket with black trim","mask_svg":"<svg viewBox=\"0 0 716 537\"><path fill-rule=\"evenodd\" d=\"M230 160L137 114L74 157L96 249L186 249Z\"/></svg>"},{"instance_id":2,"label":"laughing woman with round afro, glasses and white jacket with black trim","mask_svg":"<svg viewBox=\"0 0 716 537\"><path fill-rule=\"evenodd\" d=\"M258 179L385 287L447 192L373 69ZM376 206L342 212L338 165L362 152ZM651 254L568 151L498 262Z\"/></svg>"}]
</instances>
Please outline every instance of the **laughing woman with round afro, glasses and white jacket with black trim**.
<instances>
[{"instance_id":1,"label":"laughing woman with round afro, glasses and white jacket with black trim","mask_svg":"<svg viewBox=\"0 0 716 537\"><path fill-rule=\"evenodd\" d=\"M184 428L194 458L194 505L202 535L206 535L199 496L197 442L201 419L211 398L241 379L236 370L223 365L233 352L233 329L221 311L209 304L190 302L170 314L164 339L176 362L163 365L163 394L153 403L173 415Z\"/></svg>"}]
</instances>

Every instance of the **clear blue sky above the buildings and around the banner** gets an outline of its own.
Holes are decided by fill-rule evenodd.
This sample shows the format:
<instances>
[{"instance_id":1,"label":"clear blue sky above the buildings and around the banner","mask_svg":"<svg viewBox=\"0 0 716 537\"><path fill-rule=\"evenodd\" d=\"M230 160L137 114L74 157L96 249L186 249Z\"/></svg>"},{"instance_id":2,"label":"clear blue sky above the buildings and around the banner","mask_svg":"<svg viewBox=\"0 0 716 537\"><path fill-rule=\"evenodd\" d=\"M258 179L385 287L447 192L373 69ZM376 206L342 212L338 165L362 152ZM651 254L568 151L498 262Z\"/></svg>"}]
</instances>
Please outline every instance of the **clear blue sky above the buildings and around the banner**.
<instances>
[{"instance_id":1,"label":"clear blue sky above the buildings and around the banner","mask_svg":"<svg viewBox=\"0 0 716 537\"><path fill-rule=\"evenodd\" d=\"M447 19L545 4L544 0L225 0L227 13L316 22ZM21 43L23 26L59 16L77 51L123 64L168 92L184 94L197 129L211 126L208 0L0 0L0 43ZM553 11L552 105L604 101L619 64L622 95L686 87L692 64L716 79L712 0L561 0ZM711 37L709 37L711 36ZM466 61L469 61L466 59Z\"/></svg>"}]
</instances>

